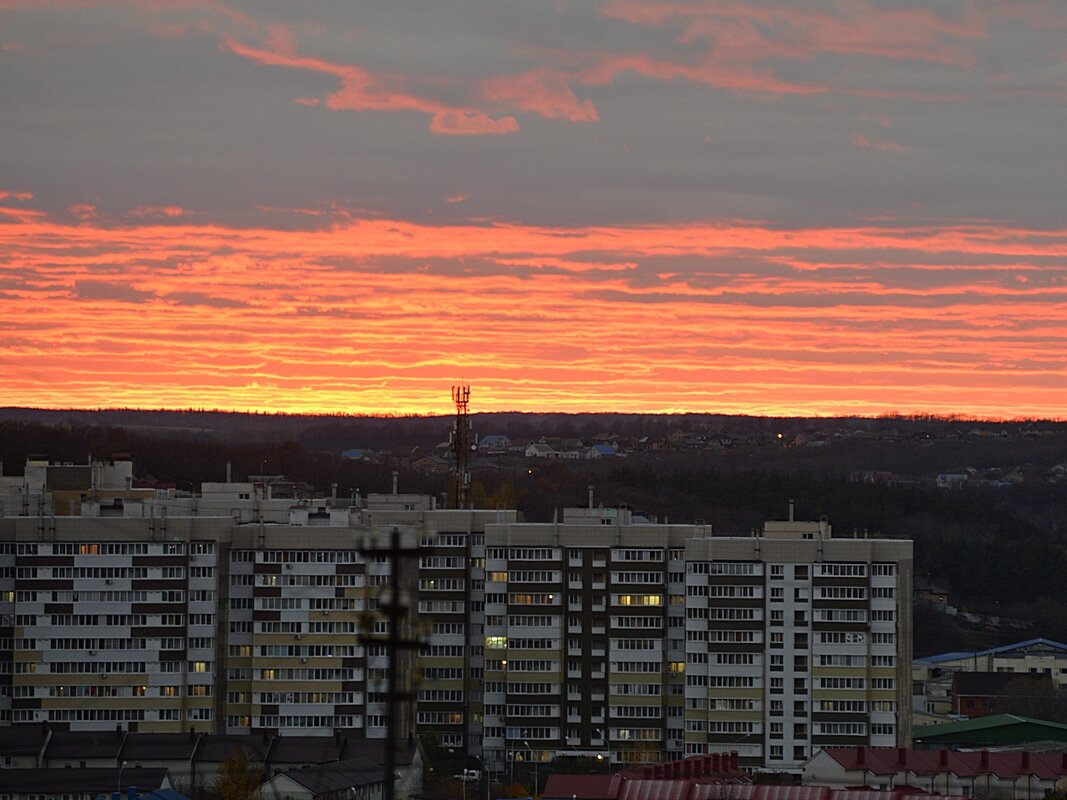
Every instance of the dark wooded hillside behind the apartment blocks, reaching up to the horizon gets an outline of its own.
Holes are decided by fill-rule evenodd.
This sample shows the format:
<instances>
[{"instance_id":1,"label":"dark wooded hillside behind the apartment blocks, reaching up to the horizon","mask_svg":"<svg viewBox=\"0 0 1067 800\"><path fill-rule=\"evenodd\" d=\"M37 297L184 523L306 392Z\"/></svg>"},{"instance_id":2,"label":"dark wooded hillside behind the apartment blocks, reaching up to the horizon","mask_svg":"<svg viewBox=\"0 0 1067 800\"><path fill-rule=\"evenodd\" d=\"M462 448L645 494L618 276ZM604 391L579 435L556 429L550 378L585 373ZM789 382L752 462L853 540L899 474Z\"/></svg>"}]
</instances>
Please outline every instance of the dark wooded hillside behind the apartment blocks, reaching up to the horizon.
<instances>
[{"instance_id":1,"label":"dark wooded hillside behind the apartment blocks, reaching up to the horizon","mask_svg":"<svg viewBox=\"0 0 1067 800\"><path fill-rule=\"evenodd\" d=\"M1025 630L960 624L927 606L915 608L917 655L989 646L1045 636L1067 640L1067 481L1047 477L1006 485L939 490L928 482L870 483L857 473L936 475L939 471L1024 467L1045 476L1067 461L1067 426L975 423L933 418L773 419L716 415L474 415L480 434L512 438L591 438L611 433L659 438L671 433L729 432L758 444L705 451L633 452L602 461L501 457L474 476L479 507L516 508L526 519L548 521L564 506L585 505L594 485L598 505L626 505L660 522L702 519L718 533L748 533L783 518L791 499L798 518L825 515L837 535L906 538L915 543L915 575L945 587L950 602L974 613L1032 622ZM253 474L286 475L321 492L387 492L392 473L403 492L441 496L448 476L408 466L447 441L452 418L289 417L217 412L39 412L0 410L4 475L21 474L30 453L82 462L128 452L139 478L193 491ZM946 432L985 426L997 437L975 441ZM761 445L766 434L815 430L894 436L853 437L818 448ZM760 438L760 434L764 437ZM896 435L899 434L899 435ZM1010 435L1005 435L1010 434ZM346 448L382 453L380 463L340 458Z\"/></svg>"}]
</instances>

